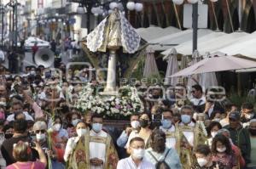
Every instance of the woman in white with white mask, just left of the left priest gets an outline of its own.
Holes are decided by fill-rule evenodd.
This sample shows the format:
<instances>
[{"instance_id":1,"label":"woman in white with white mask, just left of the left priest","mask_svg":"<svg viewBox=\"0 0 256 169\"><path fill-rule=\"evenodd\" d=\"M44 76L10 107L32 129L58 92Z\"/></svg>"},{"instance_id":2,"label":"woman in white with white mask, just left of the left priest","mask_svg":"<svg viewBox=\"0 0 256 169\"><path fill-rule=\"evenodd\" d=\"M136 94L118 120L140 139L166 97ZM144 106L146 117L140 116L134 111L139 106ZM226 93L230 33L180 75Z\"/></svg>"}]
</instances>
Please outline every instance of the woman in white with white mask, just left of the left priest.
<instances>
[{"instance_id":1,"label":"woman in white with white mask, just left of the left priest","mask_svg":"<svg viewBox=\"0 0 256 169\"><path fill-rule=\"evenodd\" d=\"M86 127L84 121L79 121L77 123L76 132L77 132L77 137L69 138L67 140L67 146L66 146L65 154L64 154L64 161L68 161L68 157L69 157L69 155L71 155L74 146L79 141L79 138L83 137L86 134L87 127Z\"/></svg>"}]
</instances>

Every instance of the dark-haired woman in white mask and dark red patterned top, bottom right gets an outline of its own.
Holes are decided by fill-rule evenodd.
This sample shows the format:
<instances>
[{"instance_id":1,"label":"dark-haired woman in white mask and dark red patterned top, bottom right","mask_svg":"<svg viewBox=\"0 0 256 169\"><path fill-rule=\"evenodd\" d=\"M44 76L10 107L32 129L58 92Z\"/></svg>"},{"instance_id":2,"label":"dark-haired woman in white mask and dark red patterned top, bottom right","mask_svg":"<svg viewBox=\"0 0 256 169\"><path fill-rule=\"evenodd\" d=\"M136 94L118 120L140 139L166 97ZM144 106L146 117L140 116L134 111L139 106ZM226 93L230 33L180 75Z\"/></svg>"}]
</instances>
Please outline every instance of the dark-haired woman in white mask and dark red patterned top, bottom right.
<instances>
[{"instance_id":1,"label":"dark-haired woman in white mask and dark red patterned top, bottom right","mask_svg":"<svg viewBox=\"0 0 256 169\"><path fill-rule=\"evenodd\" d=\"M238 161L231 149L230 140L224 135L218 134L212 140L212 161L223 165L224 168L238 168Z\"/></svg>"}]
</instances>

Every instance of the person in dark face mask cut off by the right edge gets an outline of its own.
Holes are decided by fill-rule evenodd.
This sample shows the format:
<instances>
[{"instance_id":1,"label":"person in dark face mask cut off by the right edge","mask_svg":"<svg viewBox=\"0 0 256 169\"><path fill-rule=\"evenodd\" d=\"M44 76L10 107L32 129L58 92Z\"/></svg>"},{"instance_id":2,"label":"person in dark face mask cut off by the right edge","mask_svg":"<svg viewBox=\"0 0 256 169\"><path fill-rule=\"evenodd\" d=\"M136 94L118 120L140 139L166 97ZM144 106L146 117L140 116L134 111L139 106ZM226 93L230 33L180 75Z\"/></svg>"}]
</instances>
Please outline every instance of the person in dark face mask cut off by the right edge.
<instances>
[{"instance_id":1,"label":"person in dark face mask cut off by the right edge","mask_svg":"<svg viewBox=\"0 0 256 169\"><path fill-rule=\"evenodd\" d=\"M251 162L247 164L248 169L256 168L256 119L250 121L248 128L251 141Z\"/></svg>"}]
</instances>

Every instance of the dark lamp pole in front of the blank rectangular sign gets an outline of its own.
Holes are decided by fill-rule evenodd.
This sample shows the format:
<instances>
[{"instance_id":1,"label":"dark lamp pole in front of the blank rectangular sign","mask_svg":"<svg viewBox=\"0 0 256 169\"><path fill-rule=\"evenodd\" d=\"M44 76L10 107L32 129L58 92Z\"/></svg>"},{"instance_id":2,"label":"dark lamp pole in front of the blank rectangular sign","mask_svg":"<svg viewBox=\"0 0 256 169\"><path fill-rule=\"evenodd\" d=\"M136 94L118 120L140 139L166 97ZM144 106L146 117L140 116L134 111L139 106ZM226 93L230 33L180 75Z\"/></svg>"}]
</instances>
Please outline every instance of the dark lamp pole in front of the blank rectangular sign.
<instances>
[{"instance_id":1,"label":"dark lamp pole in front of the blank rectangular sign","mask_svg":"<svg viewBox=\"0 0 256 169\"><path fill-rule=\"evenodd\" d=\"M193 4L193 14L192 14L192 20L193 20L193 53L195 50L197 50L197 29L198 29L198 3Z\"/></svg>"}]
</instances>

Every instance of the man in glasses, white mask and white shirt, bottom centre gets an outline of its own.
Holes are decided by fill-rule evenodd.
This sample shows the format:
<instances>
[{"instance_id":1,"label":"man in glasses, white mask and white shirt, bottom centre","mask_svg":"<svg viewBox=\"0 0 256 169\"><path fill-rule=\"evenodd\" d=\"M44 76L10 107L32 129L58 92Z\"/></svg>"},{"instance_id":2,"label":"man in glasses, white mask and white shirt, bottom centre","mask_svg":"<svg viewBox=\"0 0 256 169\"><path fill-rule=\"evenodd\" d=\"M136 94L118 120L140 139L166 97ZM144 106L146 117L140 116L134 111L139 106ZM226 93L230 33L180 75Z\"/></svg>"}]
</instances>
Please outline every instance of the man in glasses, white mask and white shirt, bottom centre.
<instances>
[{"instance_id":1,"label":"man in glasses, white mask and white shirt, bottom centre","mask_svg":"<svg viewBox=\"0 0 256 169\"><path fill-rule=\"evenodd\" d=\"M131 154L130 157L120 160L117 169L155 169L155 166L151 162L143 158L145 154L145 143L143 138L132 138L128 151Z\"/></svg>"}]
</instances>

